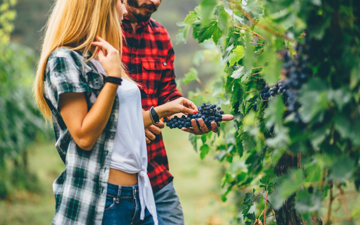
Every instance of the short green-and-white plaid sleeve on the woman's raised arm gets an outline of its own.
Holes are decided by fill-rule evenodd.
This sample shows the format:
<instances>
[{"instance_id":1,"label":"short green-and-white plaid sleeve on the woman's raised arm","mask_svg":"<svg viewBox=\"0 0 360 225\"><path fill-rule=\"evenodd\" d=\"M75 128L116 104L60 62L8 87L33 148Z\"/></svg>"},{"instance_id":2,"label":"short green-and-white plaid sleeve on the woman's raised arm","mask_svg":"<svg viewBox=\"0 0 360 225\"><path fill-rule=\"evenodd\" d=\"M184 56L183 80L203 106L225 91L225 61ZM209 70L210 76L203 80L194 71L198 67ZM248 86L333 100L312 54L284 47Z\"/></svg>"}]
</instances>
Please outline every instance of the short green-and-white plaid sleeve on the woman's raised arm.
<instances>
[{"instance_id":1,"label":"short green-and-white plaid sleeve on the woman's raised arm","mask_svg":"<svg viewBox=\"0 0 360 225\"><path fill-rule=\"evenodd\" d=\"M48 60L44 93L54 108L58 109L60 94L90 92L79 63L70 53L64 52Z\"/></svg>"}]
</instances>

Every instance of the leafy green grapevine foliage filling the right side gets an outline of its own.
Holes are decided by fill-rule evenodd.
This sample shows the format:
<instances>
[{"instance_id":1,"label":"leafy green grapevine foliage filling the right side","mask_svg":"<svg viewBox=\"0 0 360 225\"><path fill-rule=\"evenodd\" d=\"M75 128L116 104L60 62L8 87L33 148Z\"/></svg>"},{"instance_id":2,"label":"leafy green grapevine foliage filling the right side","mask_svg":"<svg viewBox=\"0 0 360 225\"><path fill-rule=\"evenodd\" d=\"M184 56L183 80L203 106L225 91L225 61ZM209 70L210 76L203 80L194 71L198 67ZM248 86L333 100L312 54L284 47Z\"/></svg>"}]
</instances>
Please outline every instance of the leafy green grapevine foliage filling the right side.
<instances>
[{"instance_id":1,"label":"leafy green grapevine foliage filling the right side","mask_svg":"<svg viewBox=\"0 0 360 225\"><path fill-rule=\"evenodd\" d=\"M358 191L360 186L359 4L351 0L203 0L179 23L183 28L178 41L192 35L203 43L194 64L206 61L204 55L211 51L213 59L220 58L215 62L222 69L213 90L190 92L189 97L197 105L211 99L235 115L234 123L222 123L219 134L190 135L190 140L201 158L215 150L216 158L227 165L222 179L224 201L229 193L256 188L245 195L234 224L264 221L265 203L267 215L290 204L302 216L298 224L359 222L359 207L349 208L344 192L349 187ZM265 104L259 91L266 83L285 78L279 50L293 56L295 46L305 44L305 39L312 77L298 92L298 115L303 121L298 123L281 95ZM198 80L198 74L191 68L183 82ZM274 134L269 132L272 126ZM274 172L291 159L297 159L297 165L276 177ZM332 215L336 198L344 210L342 219ZM281 217L285 215L267 221L285 224Z\"/></svg>"}]
</instances>

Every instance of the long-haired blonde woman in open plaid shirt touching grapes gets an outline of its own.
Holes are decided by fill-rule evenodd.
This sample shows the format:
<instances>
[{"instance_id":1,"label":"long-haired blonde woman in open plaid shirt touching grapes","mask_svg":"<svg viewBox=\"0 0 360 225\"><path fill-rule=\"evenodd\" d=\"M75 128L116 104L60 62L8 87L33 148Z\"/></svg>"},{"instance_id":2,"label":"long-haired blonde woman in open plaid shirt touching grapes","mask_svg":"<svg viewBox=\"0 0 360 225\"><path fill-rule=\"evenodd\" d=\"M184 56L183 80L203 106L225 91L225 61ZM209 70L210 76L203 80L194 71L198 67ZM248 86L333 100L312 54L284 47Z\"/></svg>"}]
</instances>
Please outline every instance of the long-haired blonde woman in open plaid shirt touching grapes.
<instances>
[{"instance_id":1,"label":"long-haired blonde woman in open plaid shirt touching grapes","mask_svg":"<svg viewBox=\"0 0 360 225\"><path fill-rule=\"evenodd\" d=\"M144 128L197 108L180 98L142 112L139 88L113 47L122 49L126 13L123 0L57 0L47 23L35 98L65 164L53 184L53 224L163 224Z\"/></svg>"}]
</instances>

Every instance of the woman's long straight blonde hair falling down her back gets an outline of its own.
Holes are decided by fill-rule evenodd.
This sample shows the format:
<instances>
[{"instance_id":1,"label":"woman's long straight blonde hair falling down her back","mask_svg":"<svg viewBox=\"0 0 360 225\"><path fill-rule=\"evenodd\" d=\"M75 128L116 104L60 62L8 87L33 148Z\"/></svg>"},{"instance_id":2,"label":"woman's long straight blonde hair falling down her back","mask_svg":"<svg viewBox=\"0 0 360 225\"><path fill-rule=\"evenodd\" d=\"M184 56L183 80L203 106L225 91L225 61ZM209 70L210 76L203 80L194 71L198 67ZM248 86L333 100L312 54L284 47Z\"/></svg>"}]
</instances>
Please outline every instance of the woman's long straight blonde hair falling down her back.
<instances>
[{"instance_id":1,"label":"woman's long straight blonde hair falling down her back","mask_svg":"<svg viewBox=\"0 0 360 225\"><path fill-rule=\"evenodd\" d=\"M112 46L120 47L120 54L122 54L122 32L116 5L117 0L55 1L45 26L46 31L34 84L36 103L46 119L51 121L51 110L44 98L44 72L49 55L55 49L66 46L69 50L81 50L84 55L91 51L94 53L91 58L94 58L97 56L98 47L91 45L91 42L97 35ZM131 80L125 69L122 71L122 76Z\"/></svg>"}]
</instances>

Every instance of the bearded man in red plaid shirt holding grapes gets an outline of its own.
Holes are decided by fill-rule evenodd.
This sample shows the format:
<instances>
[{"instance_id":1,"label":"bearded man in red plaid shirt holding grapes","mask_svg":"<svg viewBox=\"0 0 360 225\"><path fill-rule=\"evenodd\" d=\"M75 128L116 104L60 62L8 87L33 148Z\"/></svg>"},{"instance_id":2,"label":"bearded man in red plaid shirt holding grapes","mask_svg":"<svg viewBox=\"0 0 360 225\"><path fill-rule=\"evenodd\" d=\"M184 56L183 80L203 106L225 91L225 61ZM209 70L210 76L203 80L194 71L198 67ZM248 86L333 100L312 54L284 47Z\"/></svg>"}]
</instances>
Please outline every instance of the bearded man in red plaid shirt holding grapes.
<instances>
[{"instance_id":1,"label":"bearded man in red plaid shirt holding grapes","mask_svg":"<svg viewBox=\"0 0 360 225\"><path fill-rule=\"evenodd\" d=\"M126 42L123 45L122 62L132 79L141 87L144 110L181 97L176 88L174 73L174 49L166 29L150 18L162 0L127 0L127 16L122 23ZM223 121L232 120L232 115L223 115ZM164 118L165 120L167 118ZM193 129L183 128L193 134L217 132L217 126L208 129L202 119L201 129L193 120ZM166 225L183 225L184 215L169 172L161 128L164 123L145 129L148 148L148 175L153 188L157 212Z\"/></svg>"}]
</instances>

